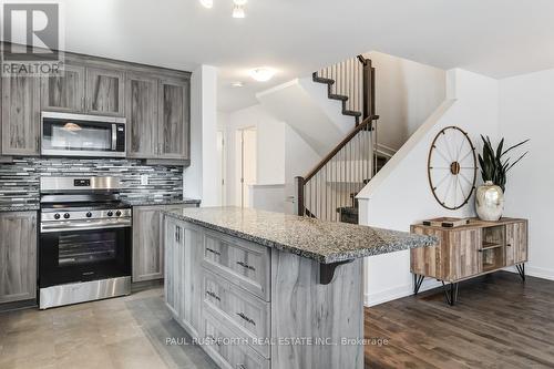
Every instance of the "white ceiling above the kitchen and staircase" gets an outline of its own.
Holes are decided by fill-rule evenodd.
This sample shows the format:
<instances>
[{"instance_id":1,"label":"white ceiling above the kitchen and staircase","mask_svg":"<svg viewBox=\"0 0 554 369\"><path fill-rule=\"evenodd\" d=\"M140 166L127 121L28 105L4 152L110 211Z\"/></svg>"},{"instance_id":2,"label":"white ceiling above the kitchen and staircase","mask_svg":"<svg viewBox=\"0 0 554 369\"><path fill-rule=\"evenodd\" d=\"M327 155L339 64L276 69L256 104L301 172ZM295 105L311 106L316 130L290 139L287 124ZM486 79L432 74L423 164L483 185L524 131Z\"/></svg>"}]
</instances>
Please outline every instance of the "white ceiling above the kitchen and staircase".
<instances>
[{"instance_id":1,"label":"white ceiling above the kitchen and staircase","mask_svg":"<svg viewBox=\"0 0 554 369\"><path fill-rule=\"evenodd\" d=\"M193 70L219 70L223 111L319 66L378 50L442 69L494 78L554 68L552 0L62 0L65 49ZM277 69L266 83L247 70ZM232 89L232 81L245 81Z\"/></svg>"}]
</instances>

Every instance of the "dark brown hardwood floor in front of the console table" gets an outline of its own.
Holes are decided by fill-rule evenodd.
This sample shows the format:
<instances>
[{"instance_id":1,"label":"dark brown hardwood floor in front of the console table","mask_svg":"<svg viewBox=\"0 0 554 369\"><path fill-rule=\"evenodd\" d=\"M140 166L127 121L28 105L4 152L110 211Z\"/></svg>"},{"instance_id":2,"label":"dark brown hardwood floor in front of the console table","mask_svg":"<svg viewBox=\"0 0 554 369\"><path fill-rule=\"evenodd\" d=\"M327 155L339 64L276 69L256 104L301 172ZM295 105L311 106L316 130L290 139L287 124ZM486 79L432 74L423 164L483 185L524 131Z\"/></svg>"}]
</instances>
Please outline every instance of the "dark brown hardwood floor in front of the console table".
<instances>
[{"instance_id":1,"label":"dark brown hardwood floor in front of the console table","mask_svg":"<svg viewBox=\"0 0 554 369\"><path fill-rule=\"evenodd\" d=\"M366 368L554 368L554 281L499 271L366 308Z\"/></svg>"}]
</instances>

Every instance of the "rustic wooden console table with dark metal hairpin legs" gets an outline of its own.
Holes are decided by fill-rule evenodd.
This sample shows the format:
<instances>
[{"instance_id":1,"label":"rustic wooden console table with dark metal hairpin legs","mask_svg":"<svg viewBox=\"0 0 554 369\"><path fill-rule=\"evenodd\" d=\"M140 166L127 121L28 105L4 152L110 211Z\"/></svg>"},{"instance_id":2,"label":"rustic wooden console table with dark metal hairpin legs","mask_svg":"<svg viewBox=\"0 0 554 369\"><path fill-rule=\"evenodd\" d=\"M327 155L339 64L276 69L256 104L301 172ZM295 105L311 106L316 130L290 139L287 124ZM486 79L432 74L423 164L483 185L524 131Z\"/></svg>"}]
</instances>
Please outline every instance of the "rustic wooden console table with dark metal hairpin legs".
<instances>
[{"instance_id":1,"label":"rustic wooden console table with dark metal hairpin legs","mask_svg":"<svg viewBox=\"0 0 554 369\"><path fill-rule=\"evenodd\" d=\"M414 295L424 277L431 277L442 281L448 304L454 305L459 281L509 266L515 266L522 280L525 280L526 219L483 222L475 218L468 225L454 228L418 224L410 229L416 234L439 238L435 246L411 249Z\"/></svg>"}]
</instances>

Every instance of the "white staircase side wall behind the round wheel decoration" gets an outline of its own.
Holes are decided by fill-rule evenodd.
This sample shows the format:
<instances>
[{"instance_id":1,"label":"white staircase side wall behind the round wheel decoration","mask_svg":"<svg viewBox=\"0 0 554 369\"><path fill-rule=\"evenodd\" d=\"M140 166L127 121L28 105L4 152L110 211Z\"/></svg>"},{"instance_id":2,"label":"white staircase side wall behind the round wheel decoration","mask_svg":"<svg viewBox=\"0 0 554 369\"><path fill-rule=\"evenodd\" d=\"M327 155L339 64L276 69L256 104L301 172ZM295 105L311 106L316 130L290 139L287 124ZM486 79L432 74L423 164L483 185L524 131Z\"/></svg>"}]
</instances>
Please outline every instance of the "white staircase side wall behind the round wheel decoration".
<instances>
[{"instance_id":1,"label":"white staircase side wall behind the round wheel decoration","mask_svg":"<svg viewBox=\"0 0 554 369\"><path fill-rule=\"evenodd\" d=\"M474 215L473 201L455 212L437 203L428 183L427 158L432 140L449 125L468 131L478 147L479 134L488 134L492 140L497 137L499 82L463 70L449 71L447 80L451 100L420 126L358 195L360 224L408 232L411 224L425 218ZM367 305L412 293L409 252L369 257L366 262ZM434 286L437 281L427 280L422 290Z\"/></svg>"}]
</instances>

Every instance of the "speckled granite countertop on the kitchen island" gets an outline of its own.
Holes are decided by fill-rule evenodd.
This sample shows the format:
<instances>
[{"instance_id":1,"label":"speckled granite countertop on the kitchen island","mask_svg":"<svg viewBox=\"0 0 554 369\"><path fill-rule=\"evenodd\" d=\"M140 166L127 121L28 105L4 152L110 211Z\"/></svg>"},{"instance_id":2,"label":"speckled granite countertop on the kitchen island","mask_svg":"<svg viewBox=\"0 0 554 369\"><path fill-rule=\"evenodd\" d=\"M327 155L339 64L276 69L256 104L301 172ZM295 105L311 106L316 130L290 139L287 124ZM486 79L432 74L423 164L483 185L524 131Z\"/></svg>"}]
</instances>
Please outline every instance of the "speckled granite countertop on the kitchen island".
<instances>
[{"instance_id":1,"label":"speckled granite countertop on the kitchen island","mask_svg":"<svg viewBox=\"0 0 554 369\"><path fill-rule=\"evenodd\" d=\"M437 238L240 207L183 208L164 214L257 244L330 264L432 246Z\"/></svg>"}]
</instances>

